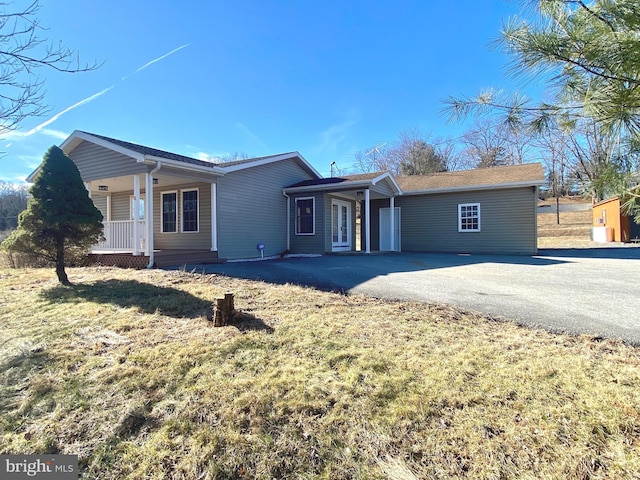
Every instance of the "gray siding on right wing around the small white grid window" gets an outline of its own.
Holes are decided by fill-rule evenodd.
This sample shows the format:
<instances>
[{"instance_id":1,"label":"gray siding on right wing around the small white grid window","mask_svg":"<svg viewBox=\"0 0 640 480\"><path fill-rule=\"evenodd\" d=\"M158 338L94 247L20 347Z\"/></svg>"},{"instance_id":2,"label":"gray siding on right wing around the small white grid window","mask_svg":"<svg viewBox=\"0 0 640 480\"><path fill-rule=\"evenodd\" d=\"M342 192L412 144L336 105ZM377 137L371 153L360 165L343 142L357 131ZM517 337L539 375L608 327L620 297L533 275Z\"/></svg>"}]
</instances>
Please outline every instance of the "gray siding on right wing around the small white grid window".
<instances>
[{"instance_id":1,"label":"gray siding on right wing around the small white grid window","mask_svg":"<svg viewBox=\"0 0 640 480\"><path fill-rule=\"evenodd\" d=\"M535 199L533 187L396 197L402 211L402 250L534 254ZM461 203L480 204L480 232L458 232ZM372 244L378 243L378 216L372 208Z\"/></svg>"}]
</instances>

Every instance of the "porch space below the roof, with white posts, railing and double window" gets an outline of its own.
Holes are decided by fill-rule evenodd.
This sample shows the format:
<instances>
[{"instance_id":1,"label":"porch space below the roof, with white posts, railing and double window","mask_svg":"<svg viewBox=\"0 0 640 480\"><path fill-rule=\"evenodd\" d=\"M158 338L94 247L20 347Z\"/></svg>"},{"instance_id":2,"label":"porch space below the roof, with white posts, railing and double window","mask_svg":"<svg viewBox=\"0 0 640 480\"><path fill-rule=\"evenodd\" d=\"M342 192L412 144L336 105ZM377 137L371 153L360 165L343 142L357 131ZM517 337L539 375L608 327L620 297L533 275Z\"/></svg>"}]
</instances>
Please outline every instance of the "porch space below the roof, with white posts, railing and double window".
<instances>
[{"instance_id":1,"label":"porch space below the roof, with white posts, railing and double window","mask_svg":"<svg viewBox=\"0 0 640 480\"><path fill-rule=\"evenodd\" d=\"M91 258L109 264L108 255L120 263L140 256L148 266L217 260L217 185L198 180L149 171L85 182L104 218Z\"/></svg>"}]
</instances>

